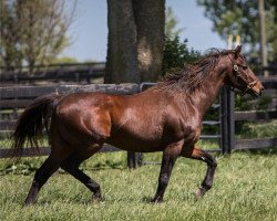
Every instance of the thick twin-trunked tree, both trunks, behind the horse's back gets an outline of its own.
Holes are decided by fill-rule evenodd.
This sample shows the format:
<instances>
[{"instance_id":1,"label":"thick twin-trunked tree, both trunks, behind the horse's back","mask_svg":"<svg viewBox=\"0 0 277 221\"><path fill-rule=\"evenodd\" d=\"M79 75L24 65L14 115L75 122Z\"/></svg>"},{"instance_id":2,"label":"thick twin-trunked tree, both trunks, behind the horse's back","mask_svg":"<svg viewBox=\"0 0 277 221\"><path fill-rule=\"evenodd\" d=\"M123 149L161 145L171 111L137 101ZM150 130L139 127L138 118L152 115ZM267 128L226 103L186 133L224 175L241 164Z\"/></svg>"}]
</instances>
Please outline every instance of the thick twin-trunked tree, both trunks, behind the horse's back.
<instances>
[{"instance_id":1,"label":"thick twin-trunked tree, both trunks, behind the horse's back","mask_svg":"<svg viewBox=\"0 0 277 221\"><path fill-rule=\"evenodd\" d=\"M105 83L156 81L161 75L165 0L107 0Z\"/></svg>"}]
</instances>

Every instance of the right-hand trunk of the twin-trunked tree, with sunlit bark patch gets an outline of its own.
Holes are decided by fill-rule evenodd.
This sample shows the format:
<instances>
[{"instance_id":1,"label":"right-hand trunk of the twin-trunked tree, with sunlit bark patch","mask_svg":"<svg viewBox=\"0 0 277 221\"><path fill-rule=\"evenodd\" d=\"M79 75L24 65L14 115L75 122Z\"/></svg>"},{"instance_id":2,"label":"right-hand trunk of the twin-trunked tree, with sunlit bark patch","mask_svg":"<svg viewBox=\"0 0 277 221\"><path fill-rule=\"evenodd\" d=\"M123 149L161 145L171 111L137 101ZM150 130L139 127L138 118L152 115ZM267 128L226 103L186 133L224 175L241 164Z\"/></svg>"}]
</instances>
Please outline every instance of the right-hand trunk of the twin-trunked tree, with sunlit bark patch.
<instances>
[{"instance_id":1,"label":"right-hand trunk of the twin-trunked tree, with sunlit bark patch","mask_svg":"<svg viewBox=\"0 0 277 221\"><path fill-rule=\"evenodd\" d=\"M156 82L162 73L165 0L133 0L133 9L141 81Z\"/></svg>"}]
</instances>

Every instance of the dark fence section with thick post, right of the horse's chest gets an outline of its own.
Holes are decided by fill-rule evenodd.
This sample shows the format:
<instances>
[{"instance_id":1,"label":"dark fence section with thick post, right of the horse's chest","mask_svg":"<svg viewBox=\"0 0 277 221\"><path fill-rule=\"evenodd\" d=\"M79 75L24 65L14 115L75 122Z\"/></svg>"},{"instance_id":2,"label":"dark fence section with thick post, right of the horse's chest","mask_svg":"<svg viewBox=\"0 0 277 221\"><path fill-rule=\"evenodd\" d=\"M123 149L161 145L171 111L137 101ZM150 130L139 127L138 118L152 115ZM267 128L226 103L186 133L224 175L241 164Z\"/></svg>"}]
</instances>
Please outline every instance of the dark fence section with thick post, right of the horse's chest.
<instances>
[{"instance_id":1,"label":"dark fence section with thick post, right of the horse's chest","mask_svg":"<svg viewBox=\"0 0 277 221\"><path fill-rule=\"evenodd\" d=\"M270 94L265 93L260 98L270 96L271 104L269 109L264 110L240 110L235 112L234 93L228 88L224 88L222 96L222 148L224 154L230 154L237 149L259 149L265 147L277 146L277 131L275 137L255 138L255 139L236 139L235 123L252 122L260 123L277 119L277 78L261 78L263 85Z\"/></svg>"}]
</instances>

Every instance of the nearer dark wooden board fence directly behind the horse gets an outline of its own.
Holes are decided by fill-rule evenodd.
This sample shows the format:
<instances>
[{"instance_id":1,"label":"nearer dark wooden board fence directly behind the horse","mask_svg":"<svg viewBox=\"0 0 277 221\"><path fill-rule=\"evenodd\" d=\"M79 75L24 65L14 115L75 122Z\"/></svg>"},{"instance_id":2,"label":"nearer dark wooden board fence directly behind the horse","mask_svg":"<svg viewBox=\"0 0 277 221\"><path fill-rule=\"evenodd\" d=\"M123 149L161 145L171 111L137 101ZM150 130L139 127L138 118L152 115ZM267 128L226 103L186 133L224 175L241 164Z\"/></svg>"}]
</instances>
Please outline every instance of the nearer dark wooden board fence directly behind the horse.
<instances>
[{"instance_id":1,"label":"nearer dark wooden board fence directly behind the horse","mask_svg":"<svg viewBox=\"0 0 277 221\"><path fill-rule=\"evenodd\" d=\"M220 108L218 120L204 120L204 125L219 127L217 135L203 135L203 139L218 139L219 148L215 151L223 154L230 154L234 149L245 148L263 148L268 146L277 146L277 137L264 139L246 139L236 140L235 122L237 120L268 120L277 118L277 81L276 78L264 80L266 92L269 95L275 95L270 102L270 109L268 110L248 110L248 112L234 112L234 93L227 87L224 87L220 93L219 104L214 104L214 108ZM25 106L28 106L35 97L57 93L69 94L75 92L105 92L112 94L134 94L143 91L144 86L153 84L91 84L91 85L54 85L54 86L18 86L18 87L0 87L0 136L7 137L14 127L16 119ZM264 96L267 96L265 93ZM263 98L263 96L261 96ZM277 134L276 134L277 135ZM0 137L0 138L1 138ZM115 147L105 145L102 151L116 151ZM24 156L39 156L48 155L50 149L48 147L41 148L40 152L33 152L31 149L25 149ZM9 157L9 150L0 147L0 158ZM141 161L141 157L134 154L129 154L130 167L135 167L135 164Z\"/></svg>"}]
</instances>

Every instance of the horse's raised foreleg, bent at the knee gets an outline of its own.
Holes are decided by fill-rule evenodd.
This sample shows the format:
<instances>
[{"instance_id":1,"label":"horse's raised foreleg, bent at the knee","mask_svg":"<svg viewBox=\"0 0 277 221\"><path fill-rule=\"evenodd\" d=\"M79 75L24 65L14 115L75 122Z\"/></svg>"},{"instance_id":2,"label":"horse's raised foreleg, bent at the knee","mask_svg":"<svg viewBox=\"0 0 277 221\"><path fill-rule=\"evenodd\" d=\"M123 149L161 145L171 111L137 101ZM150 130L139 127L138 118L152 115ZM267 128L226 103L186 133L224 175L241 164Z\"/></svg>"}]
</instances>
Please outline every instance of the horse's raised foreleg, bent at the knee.
<instances>
[{"instance_id":1,"label":"horse's raised foreleg, bent at the knee","mask_svg":"<svg viewBox=\"0 0 277 221\"><path fill-rule=\"evenodd\" d=\"M212 155L209 155L208 152L206 152L197 147L194 147L193 149L185 150L184 152L182 152L182 156L186 157L186 158L191 158L191 159L202 160L202 161L207 164L206 176L205 176L204 180L202 181L201 187L195 192L196 199L199 199L213 186L213 180L214 180L214 175L215 175L215 169L217 167L217 162Z\"/></svg>"}]
</instances>

